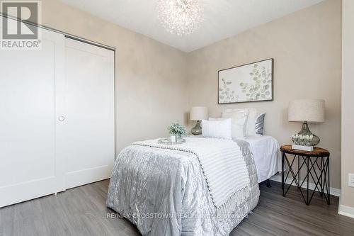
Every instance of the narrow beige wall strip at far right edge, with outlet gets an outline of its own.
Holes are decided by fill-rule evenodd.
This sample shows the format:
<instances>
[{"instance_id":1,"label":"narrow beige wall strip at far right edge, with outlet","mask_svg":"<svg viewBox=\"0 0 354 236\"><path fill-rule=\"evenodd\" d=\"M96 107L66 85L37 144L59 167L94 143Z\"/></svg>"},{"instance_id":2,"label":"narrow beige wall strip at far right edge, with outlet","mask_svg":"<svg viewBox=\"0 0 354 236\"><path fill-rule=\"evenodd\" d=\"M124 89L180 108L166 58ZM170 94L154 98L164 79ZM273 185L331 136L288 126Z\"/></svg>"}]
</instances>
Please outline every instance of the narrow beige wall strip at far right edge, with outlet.
<instances>
[{"instance_id":1,"label":"narrow beige wall strip at far right edge, with outlet","mask_svg":"<svg viewBox=\"0 0 354 236\"><path fill-rule=\"evenodd\" d=\"M348 187L348 173L354 174L354 1L343 0L342 74L342 193L341 204L354 208L354 188ZM354 212L352 212L354 214Z\"/></svg>"}]
</instances>

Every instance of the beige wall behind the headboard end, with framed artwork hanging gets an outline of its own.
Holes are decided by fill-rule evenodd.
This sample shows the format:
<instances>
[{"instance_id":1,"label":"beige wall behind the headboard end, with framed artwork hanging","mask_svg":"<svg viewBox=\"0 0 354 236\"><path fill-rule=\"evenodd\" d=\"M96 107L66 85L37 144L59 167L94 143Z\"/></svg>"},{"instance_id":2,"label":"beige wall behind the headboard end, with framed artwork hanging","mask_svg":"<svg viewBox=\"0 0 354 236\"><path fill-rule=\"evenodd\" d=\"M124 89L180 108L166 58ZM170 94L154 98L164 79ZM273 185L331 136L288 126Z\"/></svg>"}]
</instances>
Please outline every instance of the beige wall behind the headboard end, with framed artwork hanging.
<instances>
[{"instance_id":1,"label":"beige wall behind the headboard end, with framed artwork hanging","mask_svg":"<svg viewBox=\"0 0 354 236\"><path fill-rule=\"evenodd\" d=\"M274 101L217 105L217 71L273 57ZM326 122L310 124L331 152L331 186L341 188L341 1L329 0L188 54L190 106L255 107L265 134L290 143L300 123L287 121L292 99L325 99ZM353 99L352 99L353 101Z\"/></svg>"}]
</instances>

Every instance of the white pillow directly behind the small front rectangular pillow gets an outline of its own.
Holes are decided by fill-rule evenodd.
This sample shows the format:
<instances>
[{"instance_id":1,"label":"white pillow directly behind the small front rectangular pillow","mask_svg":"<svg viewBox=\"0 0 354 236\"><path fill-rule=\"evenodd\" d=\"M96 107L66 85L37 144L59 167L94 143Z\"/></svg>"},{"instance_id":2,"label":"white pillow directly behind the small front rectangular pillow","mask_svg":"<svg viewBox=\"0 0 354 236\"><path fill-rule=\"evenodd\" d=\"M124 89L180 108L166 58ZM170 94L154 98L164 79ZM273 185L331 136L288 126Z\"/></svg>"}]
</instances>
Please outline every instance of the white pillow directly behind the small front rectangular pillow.
<instances>
[{"instance_id":1,"label":"white pillow directly behind the small front rectangular pillow","mask_svg":"<svg viewBox=\"0 0 354 236\"><path fill-rule=\"evenodd\" d=\"M246 109L227 109L222 112L222 118L232 119L232 137L246 136L246 121L249 111Z\"/></svg>"}]
</instances>

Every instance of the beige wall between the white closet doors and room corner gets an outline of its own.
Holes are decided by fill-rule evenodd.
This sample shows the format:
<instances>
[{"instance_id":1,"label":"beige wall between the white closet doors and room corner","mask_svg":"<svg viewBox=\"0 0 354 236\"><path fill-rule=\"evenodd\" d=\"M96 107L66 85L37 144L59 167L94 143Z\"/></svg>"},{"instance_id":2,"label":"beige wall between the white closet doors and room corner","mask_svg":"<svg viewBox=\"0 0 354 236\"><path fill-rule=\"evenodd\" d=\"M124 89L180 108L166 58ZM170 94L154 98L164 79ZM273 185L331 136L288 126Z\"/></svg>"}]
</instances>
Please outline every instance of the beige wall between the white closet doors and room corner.
<instances>
[{"instance_id":1,"label":"beige wall between the white closet doors and room corner","mask_svg":"<svg viewBox=\"0 0 354 236\"><path fill-rule=\"evenodd\" d=\"M115 53L116 151L166 136L188 110L185 53L57 0L42 1L42 24L110 45Z\"/></svg>"}]
</instances>

